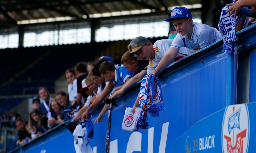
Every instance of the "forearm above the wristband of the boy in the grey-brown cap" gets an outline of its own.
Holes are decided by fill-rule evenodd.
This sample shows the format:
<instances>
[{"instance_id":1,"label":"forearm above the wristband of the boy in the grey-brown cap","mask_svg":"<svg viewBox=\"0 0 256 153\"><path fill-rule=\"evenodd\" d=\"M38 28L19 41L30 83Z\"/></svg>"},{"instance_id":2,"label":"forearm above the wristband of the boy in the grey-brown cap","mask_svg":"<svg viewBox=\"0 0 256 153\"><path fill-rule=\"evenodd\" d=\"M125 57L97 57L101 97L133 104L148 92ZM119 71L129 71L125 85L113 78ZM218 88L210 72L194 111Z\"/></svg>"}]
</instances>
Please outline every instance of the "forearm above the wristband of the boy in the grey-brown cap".
<instances>
[{"instance_id":1,"label":"forearm above the wristband of the boy in the grey-brown cap","mask_svg":"<svg viewBox=\"0 0 256 153\"><path fill-rule=\"evenodd\" d=\"M123 84L122 91L125 92L130 87L134 86L138 81L140 81L147 74L147 70L142 70L140 73L134 75L125 84Z\"/></svg>"}]
</instances>

